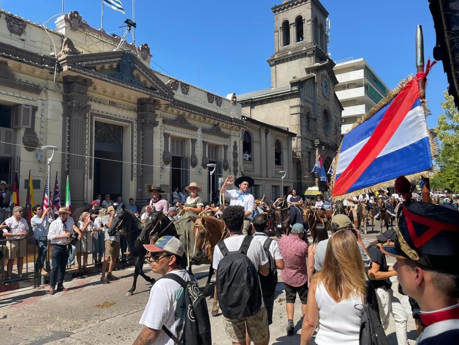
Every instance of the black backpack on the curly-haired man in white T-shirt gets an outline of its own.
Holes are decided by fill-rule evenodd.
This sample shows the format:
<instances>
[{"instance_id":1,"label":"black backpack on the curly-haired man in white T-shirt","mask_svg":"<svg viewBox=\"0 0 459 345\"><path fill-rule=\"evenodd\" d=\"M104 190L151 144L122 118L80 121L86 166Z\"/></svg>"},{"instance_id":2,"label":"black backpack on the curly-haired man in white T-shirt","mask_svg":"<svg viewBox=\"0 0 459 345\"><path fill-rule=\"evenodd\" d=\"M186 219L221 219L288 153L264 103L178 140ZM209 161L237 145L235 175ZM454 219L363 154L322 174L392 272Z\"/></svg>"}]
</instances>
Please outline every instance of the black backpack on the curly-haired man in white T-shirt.
<instances>
[{"instance_id":1,"label":"black backpack on the curly-haired man in white T-shirt","mask_svg":"<svg viewBox=\"0 0 459 345\"><path fill-rule=\"evenodd\" d=\"M229 252L220 241L223 258L217 267L217 297L223 316L240 320L255 315L261 308L258 268L247 256L252 236L245 236L238 251Z\"/></svg>"}]
</instances>

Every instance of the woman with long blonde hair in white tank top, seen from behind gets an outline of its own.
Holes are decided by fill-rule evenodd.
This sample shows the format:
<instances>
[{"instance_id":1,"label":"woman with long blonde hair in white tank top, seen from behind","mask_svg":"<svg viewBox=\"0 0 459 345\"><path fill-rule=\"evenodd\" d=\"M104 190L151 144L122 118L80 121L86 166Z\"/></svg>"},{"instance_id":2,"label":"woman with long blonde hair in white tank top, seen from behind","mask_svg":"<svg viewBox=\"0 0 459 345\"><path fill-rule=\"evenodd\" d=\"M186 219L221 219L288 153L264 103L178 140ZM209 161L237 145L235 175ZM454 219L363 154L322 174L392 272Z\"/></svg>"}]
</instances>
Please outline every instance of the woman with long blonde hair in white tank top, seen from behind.
<instances>
[{"instance_id":1,"label":"woman with long blonde hair in white tank top, seen from behind","mask_svg":"<svg viewBox=\"0 0 459 345\"><path fill-rule=\"evenodd\" d=\"M314 275L301 328L301 345L311 340L319 320L315 344L358 345L365 273L356 237L340 230L331 236L322 271Z\"/></svg>"}]
</instances>

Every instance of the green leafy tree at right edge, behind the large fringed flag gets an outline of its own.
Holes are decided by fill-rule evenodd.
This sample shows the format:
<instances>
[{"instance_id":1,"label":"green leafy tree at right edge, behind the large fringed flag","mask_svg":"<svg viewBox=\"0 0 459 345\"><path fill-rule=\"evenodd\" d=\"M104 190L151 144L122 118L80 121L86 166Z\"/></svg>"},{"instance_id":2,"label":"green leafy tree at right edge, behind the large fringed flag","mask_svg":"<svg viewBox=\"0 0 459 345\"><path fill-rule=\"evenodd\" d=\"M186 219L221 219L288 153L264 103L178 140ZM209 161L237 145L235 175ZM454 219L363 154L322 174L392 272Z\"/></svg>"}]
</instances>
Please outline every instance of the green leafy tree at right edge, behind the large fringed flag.
<instances>
[{"instance_id":1,"label":"green leafy tree at right edge, behind the large fringed flag","mask_svg":"<svg viewBox=\"0 0 459 345\"><path fill-rule=\"evenodd\" d=\"M459 191L459 112L454 105L454 98L446 91L444 102L441 103L443 114L438 117L435 127L437 137L441 142L440 156L437 164L440 166L439 175L447 182L453 192Z\"/></svg>"}]
</instances>

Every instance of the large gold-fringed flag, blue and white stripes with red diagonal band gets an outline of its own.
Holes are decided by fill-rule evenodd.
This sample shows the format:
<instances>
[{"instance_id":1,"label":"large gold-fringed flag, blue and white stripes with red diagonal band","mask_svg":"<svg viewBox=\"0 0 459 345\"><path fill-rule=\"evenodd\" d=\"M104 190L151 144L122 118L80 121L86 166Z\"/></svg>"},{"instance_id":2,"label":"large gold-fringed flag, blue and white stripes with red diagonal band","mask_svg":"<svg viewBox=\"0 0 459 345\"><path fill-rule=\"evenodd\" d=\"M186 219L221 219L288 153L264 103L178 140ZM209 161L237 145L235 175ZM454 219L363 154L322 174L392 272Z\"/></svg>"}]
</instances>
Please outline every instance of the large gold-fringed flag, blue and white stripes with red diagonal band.
<instances>
[{"instance_id":1,"label":"large gold-fringed flag, blue and white stripes with red diagonal band","mask_svg":"<svg viewBox=\"0 0 459 345\"><path fill-rule=\"evenodd\" d=\"M427 176L435 145L425 122L418 76L408 78L344 135L332 176L337 199Z\"/></svg>"}]
</instances>

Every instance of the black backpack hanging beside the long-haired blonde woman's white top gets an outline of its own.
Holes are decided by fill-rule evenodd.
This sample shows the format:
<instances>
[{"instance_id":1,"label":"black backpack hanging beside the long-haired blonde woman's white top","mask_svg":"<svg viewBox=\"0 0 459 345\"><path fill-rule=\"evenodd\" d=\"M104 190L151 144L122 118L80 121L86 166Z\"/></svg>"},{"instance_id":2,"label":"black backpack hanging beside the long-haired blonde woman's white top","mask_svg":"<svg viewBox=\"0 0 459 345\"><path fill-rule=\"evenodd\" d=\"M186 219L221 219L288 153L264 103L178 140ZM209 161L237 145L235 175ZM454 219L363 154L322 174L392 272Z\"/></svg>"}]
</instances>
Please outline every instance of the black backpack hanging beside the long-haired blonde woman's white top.
<instances>
[{"instance_id":1,"label":"black backpack hanging beside the long-haired blonde woman's white top","mask_svg":"<svg viewBox=\"0 0 459 345\"><path fill-rule=\"evenodd\" d=\"M386 333L379 318L379 307L376 292L370 281L366 281L367 294L363 298L360 317L359 345L389 345Z\"/></svg>"}]
</instances>

